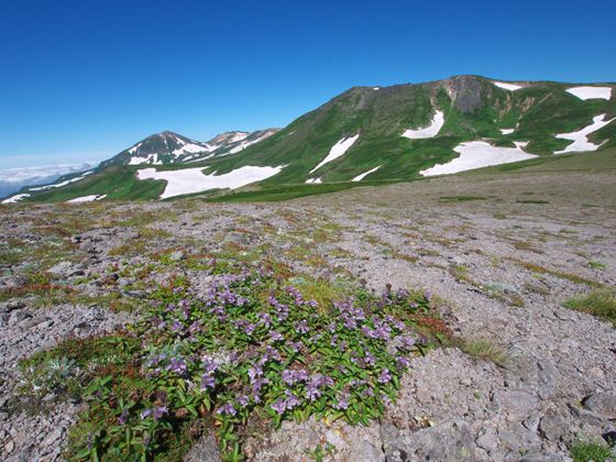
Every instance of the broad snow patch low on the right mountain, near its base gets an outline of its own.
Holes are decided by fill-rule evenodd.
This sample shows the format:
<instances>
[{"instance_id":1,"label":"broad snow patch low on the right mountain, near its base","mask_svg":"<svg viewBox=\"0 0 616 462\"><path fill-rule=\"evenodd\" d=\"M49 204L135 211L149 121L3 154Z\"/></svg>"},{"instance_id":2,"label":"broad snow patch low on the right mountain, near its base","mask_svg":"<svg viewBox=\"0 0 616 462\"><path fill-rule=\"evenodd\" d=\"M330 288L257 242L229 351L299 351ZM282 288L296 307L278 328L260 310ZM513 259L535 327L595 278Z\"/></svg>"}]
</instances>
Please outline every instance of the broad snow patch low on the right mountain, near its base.
<instances>
[{"instance_id":1,"label":"broad snow patch low on the right mountain, near its base","mask_svg":"<svg viewBox=\"0 0 616 462\"><path fill-rule=\"evenodd\" d=\"M493 146L485 141L461 143L453 148L453 151L460 154L459 157L446 164L435 165L419 172L419 174L424 176L447 175L537 157L535 154L528 154L522 151L522 147L527 144L528 142L517 141L515 142L516 147L501 147Z\"/></svg>"}]
</instances>

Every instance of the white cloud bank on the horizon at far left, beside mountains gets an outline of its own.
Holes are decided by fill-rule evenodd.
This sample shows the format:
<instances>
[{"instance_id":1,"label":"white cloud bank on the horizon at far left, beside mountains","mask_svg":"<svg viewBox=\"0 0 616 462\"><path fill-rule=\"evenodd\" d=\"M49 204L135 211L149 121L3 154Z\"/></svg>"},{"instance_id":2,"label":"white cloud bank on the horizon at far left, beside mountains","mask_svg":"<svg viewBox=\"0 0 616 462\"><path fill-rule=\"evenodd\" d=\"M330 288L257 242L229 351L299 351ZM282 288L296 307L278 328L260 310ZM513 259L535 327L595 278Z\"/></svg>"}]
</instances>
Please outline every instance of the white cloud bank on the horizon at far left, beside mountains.
<instances>
[{"instance_id":1,"label":"white cloud bank on the horizon at far left, beside mountains","mask_svg":"<svg viewBox=\"0 0 616 462\"><path fill-rule=\"evenodd\" d=\"M24 186L46 185L63 175L87 170L96 164L62 164L0 170L0 197L19 191Z\"/></svg>"}]
</instances>

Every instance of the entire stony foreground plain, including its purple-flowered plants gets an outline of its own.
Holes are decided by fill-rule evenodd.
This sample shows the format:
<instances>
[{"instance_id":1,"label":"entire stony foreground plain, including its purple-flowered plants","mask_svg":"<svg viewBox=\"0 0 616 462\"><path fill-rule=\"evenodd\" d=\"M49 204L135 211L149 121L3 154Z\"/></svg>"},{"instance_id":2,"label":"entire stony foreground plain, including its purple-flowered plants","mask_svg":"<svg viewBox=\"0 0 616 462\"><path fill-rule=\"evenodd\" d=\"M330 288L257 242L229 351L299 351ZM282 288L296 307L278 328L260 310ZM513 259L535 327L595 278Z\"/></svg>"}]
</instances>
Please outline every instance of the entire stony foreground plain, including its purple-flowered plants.
<instances>
[{"instance_id":1,"label":"entire stony foreground plain, including its purple-flowered plants","mask_svg":"<svg viewBox=\"0 0 616 462\"><path fill-rule=\"evenodd\" d=\"M615 162L4 205L0 459L614 459Z\"/></svg>"}]
</instances>

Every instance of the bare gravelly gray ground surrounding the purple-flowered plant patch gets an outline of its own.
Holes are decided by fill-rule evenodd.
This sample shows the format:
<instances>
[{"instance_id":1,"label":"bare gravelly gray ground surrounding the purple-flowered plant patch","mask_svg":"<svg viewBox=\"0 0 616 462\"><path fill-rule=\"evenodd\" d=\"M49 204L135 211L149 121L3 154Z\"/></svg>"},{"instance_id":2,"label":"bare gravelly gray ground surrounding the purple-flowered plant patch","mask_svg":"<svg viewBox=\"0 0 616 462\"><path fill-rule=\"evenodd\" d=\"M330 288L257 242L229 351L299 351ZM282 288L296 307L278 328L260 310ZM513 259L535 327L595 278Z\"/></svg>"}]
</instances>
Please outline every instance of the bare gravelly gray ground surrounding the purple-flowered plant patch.
<instances>
[{"instance_id":1,"label":"bare gravelly gray ground surrounding the purple-flowered plant patch","mask_svg":"<svg viewBox=\"0 0 616 462\"><path fill-rule=\"evenodd\" d=\"M255 461L564 461L616 430L616 332L562 307L616 285L616 177L441 178L284 204L95 204L1 209L0 458L62 458L78 403L12 405L18 362L139 317L143 293L212 252L429 290L460 346L413 361L381 421L285 422ZM487 359L463 345L479 340ZM491 361L492 360L492 361ZM215 458L204 438L193 460ZM204 455L209 454L209 455Z\"/></svg>"}]
</instances>

